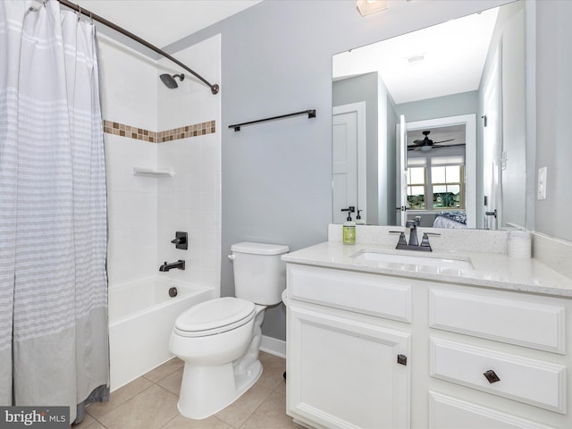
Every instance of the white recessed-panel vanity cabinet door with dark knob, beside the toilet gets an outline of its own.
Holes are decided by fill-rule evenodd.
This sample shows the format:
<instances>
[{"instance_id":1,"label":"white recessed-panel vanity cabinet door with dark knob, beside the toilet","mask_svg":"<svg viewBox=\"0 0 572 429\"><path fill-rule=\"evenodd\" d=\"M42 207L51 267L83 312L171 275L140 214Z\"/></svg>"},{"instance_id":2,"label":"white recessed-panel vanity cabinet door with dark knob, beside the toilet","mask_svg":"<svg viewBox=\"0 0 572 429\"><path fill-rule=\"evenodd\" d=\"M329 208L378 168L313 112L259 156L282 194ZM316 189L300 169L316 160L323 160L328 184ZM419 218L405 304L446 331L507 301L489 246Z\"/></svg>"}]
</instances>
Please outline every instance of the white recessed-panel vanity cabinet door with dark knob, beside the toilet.
<instances>
[{"instance_id":1,"label":"white recessed-panel vanity cabinet door with dark knob, beside the toilet","mask_svg":"<svg viewBox=\"0 0 572 429\"><path fill-rule=\"evenodd\" d=\"M408 427L408 332L293 307L292 301L288 315L290 415L330 429Z\"/></svg>"}]
</instances>

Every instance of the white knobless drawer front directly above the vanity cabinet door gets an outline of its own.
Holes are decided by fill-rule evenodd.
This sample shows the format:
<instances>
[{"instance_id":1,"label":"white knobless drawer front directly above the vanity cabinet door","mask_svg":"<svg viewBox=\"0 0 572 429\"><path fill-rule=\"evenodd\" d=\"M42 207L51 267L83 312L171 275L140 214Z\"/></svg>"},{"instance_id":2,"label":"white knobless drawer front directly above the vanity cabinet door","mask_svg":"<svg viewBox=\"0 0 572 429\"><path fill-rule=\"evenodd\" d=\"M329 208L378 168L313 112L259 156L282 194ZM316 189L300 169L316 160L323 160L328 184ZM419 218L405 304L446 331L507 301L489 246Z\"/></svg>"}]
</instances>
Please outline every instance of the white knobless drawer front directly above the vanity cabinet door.
<instances>
[{"instance_id":1,"label":"white knobless drawer front directly above the vanity cabinet door","mask_svg":"<svg viewBox=\"0 0 572 429\"><path fill-rule=\"evenodd\" d=\"M411 322L411 283L370 273L288 265L288 297Z\"/></svg>"}]
</instances>

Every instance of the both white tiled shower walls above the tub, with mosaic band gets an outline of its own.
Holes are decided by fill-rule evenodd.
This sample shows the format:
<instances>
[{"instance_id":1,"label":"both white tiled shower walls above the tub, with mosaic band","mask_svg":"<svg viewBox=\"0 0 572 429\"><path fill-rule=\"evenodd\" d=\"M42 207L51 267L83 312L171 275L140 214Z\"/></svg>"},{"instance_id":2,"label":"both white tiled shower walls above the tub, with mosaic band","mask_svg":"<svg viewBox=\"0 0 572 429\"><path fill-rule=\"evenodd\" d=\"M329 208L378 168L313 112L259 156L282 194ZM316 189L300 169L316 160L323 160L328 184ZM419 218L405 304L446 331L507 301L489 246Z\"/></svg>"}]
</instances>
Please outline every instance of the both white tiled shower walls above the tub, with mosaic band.
<instances>
[{"instance_id":1,"label":"both white tiled shower walls above the tub, with mosaic band","mask_svg":"<svg viewBox=\"0 0 572 429\"><path fill-rule=\"evenodd\" d=\"M218 291L220 95L190 79L164 87L159 74L181 71L105 36L99 54L110 287L162 275ZM212 38L173 56L220 84L219 54L220 38ZM135 176L135 166L173 167L175 175ZM189 232L189 250L171 244L175 231ZM177 259L186 260L185 271L158 272Z\"/></svg>"}]
</instances>

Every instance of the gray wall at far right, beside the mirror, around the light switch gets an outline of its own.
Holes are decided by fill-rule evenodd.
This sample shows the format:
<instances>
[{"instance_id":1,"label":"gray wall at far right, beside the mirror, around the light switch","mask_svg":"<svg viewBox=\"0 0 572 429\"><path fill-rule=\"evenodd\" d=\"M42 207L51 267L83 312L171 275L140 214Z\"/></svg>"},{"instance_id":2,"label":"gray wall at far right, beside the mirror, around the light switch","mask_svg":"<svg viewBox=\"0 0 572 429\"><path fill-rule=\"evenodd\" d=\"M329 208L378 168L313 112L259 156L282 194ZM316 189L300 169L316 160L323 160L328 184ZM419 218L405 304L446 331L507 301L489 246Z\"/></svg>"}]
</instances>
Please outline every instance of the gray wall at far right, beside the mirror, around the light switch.
<instances>
[{"instance_id":1,"label":"gray wall at far right, beside the mirror, around the light switch","mask_svg":"<svg viewBox=\"0 0 572 429\"><path fill-rule=\"evenodd\" d=\"M548 167L548 183L535 229L572 241L572 2L537 2L536 18L536 168Z\"/></svg>"}]
</instances>

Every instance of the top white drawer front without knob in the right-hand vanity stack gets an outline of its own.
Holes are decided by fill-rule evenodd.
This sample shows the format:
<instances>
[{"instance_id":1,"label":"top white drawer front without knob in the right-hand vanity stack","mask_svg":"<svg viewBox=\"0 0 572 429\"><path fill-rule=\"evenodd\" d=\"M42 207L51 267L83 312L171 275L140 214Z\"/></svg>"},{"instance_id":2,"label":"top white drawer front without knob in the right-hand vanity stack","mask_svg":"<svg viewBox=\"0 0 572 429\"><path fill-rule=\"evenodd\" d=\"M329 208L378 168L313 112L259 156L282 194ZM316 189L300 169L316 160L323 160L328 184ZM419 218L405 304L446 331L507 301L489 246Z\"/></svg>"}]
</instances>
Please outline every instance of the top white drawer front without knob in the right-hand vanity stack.
<instances>
[{"instance_id":1,"label":"top white drawer front without knob in the right-hand vanity stack","mask_svg":"<svg viewBox=\"0 0 572 429\"><path fill-rule=\"evenodd\" d=\"M564 354L565 308L478 292L431 289L429 325Z\"/></svg>"}]
</instances>

